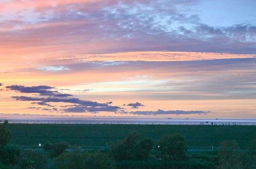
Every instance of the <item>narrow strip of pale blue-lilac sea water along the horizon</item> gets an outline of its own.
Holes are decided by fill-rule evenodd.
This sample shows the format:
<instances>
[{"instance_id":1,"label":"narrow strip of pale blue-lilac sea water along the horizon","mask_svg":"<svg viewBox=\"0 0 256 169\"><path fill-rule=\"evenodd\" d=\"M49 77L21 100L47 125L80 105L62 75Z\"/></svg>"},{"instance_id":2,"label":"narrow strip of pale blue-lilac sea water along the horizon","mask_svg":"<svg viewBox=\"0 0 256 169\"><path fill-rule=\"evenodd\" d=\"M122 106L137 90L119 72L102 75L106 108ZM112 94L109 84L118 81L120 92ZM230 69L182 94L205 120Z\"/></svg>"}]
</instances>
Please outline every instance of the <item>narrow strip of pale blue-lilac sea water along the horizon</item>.
<instances>
[{"instance_id":1,"label":"narrow strip of pale blue-lilac sea water along the horizon","mask_svg":"<svg viewBox=\"0 0 256 169\"><path fill-rule=\"evenodd\" d=\"M256 119L33 118L8 121L42 124L256 125Z\"/></svg>"}]
</instances>

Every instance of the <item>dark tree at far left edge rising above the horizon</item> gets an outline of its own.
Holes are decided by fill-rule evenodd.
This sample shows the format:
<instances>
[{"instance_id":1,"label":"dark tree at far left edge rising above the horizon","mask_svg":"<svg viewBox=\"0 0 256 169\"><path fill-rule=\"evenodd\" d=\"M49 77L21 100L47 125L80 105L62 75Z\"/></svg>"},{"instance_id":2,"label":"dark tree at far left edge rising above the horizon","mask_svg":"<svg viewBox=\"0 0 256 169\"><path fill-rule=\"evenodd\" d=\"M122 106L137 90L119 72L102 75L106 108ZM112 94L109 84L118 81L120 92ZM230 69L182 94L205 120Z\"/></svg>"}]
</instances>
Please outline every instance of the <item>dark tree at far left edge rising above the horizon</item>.
<instances>
[{"instance_id":1,"label":"dark tree at far left edge rising above the horizon","mask_svg":"<svg viewBox=\"0 0 256 169\"><path fill-rule=\"evenodd\" d=\"M5 120L3 124L0 124L0 147L5 146L11 140L11 132L7 126L8 120Z\"/></svg>"}]
</instances>

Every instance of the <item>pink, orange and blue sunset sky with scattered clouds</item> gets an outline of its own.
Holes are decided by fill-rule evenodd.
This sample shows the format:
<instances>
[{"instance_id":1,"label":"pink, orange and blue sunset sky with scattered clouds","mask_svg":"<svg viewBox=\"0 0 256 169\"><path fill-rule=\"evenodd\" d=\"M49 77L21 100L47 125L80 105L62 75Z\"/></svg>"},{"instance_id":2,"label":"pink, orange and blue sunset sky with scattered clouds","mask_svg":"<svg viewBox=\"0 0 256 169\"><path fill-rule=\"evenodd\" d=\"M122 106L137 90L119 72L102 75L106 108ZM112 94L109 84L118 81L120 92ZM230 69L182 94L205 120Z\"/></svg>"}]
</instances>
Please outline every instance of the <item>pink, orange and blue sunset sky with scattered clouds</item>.
<instances>
[{"instance_id":1,"label":"pink, orange and blue sunset sky with scattered clouds","mask_svg":"<svg viewBox=\"0 0 256 169\"><path fill-rule=\"evenodd\" d=\"M0 118L256 119L254 0L0 0Z\"/></svg>"}]
</instances>

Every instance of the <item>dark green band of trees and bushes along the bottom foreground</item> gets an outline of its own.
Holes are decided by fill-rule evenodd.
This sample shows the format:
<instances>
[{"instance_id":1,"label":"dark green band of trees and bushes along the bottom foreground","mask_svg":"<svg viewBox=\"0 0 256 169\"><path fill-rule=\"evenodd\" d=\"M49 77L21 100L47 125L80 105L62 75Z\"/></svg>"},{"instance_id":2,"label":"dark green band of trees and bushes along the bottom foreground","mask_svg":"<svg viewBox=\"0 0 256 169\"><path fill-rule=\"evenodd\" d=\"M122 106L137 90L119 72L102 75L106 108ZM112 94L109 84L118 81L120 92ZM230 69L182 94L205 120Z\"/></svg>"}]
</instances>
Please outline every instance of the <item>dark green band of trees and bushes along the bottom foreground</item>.
<instances>
[{"instance_id":1,"label":"dark green band of trees and bushes along the bottom foreground","mask_svg":"<svg viewBox=\"0 0 256 169\"><path fill-rule=\"evenodd\" d=\"M132 131L102 151L75 147L65 152L70 147L67 142L48 141L43 149L27 150L9 143L8 121L0 125L1 136L8 138L0 149L0 168L256 168L256 139L244 145L246 149L237 141L225 140L219 150L187 151L186 138L181 134L151 139Z\"/></svg>"}]
</instances>

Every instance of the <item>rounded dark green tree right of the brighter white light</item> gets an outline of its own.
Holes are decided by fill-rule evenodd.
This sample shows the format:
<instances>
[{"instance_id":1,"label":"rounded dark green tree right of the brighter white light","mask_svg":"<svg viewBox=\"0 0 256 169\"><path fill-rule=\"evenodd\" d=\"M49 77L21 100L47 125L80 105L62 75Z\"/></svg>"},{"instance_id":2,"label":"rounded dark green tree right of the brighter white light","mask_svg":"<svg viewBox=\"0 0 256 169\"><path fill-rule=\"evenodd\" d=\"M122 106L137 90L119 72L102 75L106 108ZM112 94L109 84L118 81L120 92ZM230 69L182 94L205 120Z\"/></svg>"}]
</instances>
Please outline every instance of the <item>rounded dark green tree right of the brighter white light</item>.
<instances>
[{"instance_id":1,"label":"rounded dark green tree right of the brighter white light","mask_svg":"<svg viewBox=\"0 0 256 169\"><path fill-rule=\"evenodd\" d=\"M157 145L162 158L182 160L185 158L185 138L181 134L165 135Z\"/></svg>"}]
</instances>

